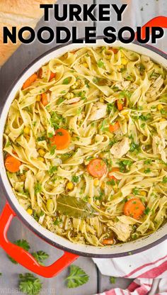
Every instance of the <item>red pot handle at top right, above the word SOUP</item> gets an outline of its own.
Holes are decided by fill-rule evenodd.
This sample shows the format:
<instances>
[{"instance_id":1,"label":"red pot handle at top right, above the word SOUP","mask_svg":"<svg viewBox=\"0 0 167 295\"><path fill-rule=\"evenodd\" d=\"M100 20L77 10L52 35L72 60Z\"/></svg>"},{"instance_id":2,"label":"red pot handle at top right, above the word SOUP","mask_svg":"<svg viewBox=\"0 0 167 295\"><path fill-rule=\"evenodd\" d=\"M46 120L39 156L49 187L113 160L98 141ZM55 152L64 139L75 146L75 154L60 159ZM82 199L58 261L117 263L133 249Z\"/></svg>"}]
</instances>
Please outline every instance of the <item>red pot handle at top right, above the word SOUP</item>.
<instances>
[{"instance_id":1,"label":"red pot handle at top right, above the word SOUP","mask_svg":"<svg viewBox=\"0 0 167 295\"><path fill-rule=\"evenodd\" d=\"M152 18L144 26L142 26L142 38L145 38L145 36L146 36L146 30L145 30L146 27L167 28L167 17L166 16L156 16L156 18ZM136 38L137 38L137 33L135 34L135 39Z\"/></svg>"}]
</instances>

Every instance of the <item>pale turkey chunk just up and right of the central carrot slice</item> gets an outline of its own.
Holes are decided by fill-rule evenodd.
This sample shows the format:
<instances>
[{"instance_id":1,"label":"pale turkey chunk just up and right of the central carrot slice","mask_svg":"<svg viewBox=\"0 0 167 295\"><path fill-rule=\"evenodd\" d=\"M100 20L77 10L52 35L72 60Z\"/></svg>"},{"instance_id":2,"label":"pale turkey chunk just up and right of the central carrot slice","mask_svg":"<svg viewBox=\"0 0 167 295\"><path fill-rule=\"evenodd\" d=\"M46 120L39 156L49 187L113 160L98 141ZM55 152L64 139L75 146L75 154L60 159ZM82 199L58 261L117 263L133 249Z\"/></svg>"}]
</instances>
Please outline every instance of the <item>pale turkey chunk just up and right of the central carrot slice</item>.
<instances>
[{"instance_id":1,"label":"pale turkey chunk just up and right of the central carrot slice","mask_svg":"<svg viewBox=\"0 0 167 295\"><path fill-rule=\"evenodd\" d=\"M115 143L113 147L110 148L110 153L116 158L120 158L125 155L130 149L129 138L123 138L120 143Z\"/></svg>"}]
</instances>

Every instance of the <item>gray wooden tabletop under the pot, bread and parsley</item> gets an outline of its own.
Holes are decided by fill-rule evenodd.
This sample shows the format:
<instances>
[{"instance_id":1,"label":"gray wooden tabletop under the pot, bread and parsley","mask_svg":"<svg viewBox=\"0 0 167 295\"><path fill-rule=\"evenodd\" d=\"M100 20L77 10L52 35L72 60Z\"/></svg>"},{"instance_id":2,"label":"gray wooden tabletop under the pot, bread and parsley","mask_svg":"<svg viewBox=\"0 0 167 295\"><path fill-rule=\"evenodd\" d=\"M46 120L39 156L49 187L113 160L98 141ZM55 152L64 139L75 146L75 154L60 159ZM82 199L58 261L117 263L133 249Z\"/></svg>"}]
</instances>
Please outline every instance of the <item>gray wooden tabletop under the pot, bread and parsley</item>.
<instances>
[{"instance_id":1,"label":"gray wooden tabletop under the pot, bread and parsley","mask_svg":"<svg viewBox=\"0 0 167 295\"><path fill-rule=\"evenodd\" d=\"M115 4L122 3L131 3L128 7L127 11L125 11L123 22L117 25L115 21L115 14L113 13L112 23L100 23L98 25L98 35L103 33L103 28L105 26L115 26L116 28L120 28L120 26L140 26L149 19L158 15L166 15L167 5L166 0L132 0L132 1L114 1ZM59 4L63 4L64 1L59 0ZM68 3L76 3L76 1L68 1ZM78 4L82 4L83 1L78 0ZM84 4L92 4L93 1L86 0ZM110 4L110 0L98 0L98 3ZM148 6L146 5L148 4ZM166 5L166 6L165 6ZM141 11L143 7L143 11ZM66 26L70 28L71 26L79 26L79 37L84 35L84 23L69 23L66 22ZM87 23L88 25L88 23ZM89 24L92 26L92 24ZM38 28L43 26L43 21L40 21L38 24ZM62 26L62 23L57 23L54 18L50 21L50 26L54 28L55 26ZM52 42L50 45L42 45L38 41L35 41L33 45L21 45L21 47L17 50L17 52L11 57L6 65L1 68L0 72L0 91L1 91L1 107L3 106L5 94L10 87L11 83L17 78L18 74L22 72L22 70L32 61L35 57L38 57L43 52L53 48L55 43ZM159 41L157 45L161 50L166 50L165 39ZM0 212L5 204L5 196L0 187ZM21 221L18 221L17 218L12 222L10 230L8 232L9 240L17 240L17 239L26 239L30 242L31 251L35 250L45 250L48 254L50 254L50 259L47 261L48 264L54 262L62 254L62 251L55 249L54 247L48 245L35 236L33 233L23 226ZM21 294L17 289L17 276L19 273L27 272L26 269L21 267L20 265L13 265L8 258L6 257L5 252L0 248L0 272L3 275L0 277L0 294ZM112 287L122 287L122 289L126 288L131 282L129 279L117 278L115 284L110 284L109 277L105 277L101 275L96 266L93 264L92 260L85 257L79 257L79 259L75 262L76 265L81 266L87 274L89 274L90 279L89 282L80 286L77 289L67 289L64 283L64 278L67 276L68 269L65 269L61 274L52 279L43 279L43 290L41 294L49 295L91 295L96 292L105 291L106 289L111 289ZM114 274L113 274L114 276Z\"/></svg>"}]
</instances>

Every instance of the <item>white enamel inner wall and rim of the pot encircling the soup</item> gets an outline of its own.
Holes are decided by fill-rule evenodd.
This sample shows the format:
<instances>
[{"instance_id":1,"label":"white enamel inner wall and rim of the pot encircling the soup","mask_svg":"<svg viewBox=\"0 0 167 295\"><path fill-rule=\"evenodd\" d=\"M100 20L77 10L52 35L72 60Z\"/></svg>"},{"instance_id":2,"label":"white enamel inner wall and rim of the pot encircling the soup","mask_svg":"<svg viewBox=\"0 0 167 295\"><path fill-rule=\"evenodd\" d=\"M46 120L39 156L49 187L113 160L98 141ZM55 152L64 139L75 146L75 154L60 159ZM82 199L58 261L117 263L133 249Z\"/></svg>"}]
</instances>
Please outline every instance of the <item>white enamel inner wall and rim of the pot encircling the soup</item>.
<instances>
[{"instance_id":1,"label":"white enamel inner wall and rim of the pot encircling the soup","mask_svg":"<svg viewBox=\"0 0 167 295\"><path fill-rule=\"evenodd\" d=\"M91 47L96 46L104 46L106 43L103 41L103 39L97 40L96 44L91 45ZM4 109L1 113L1 119L0 119L0 172L1 172L1 178L4 183L4 187L6 189L6 198L8 199L9 204L11 204L14 211L16 211L17 215L21 217L23 222L35 233L37 233L39 236L41 236L43 239L47 240L47 242L51 243L52 245L55 245L59 248L62 248L64 250L70 251L70 252L76 252L76 254L79 255L85 255L85 256L91 256L91 257L118 257L118 256L124 256L128 255L128 252L140 252L142 250L146 250L146 248L149 248L153 245L156 245L160 243L162 240L166 238L166 230L167 230L167 223L163 225L159 230L152 233L149 236L146 236L144 238L139 238L138 240L134 240L128 243L122 243L113 245L112 247L94 247L91 245L81 245L81 244L74 244L71 243L69 240L66 240L59 235L55 235L54 233L51 233L49 230L46 230L40 224L35 221L35 219L30 216L23 207L18 204L18 201L16 199L16 196L13 194L13 191L11 189L11 184L8 181L8 177L6 175L6 169L4 167L4 159L3 159L3 132L4 132L4 125L6 122L6 117L8 115L8 109L11 106L11 102L13 101L13 98L16 95L16 92L18 89L22 87L23 82L25 82L28 77L30 77L31 74L36 72L41 65L44 65L49 60L51 60L54 57L58 57L59 55L64 54L65 52L69 50L74 50L76 48L82 48L85 46L90 46L90 44L69 44L64 45L64 47L53 49L51 52L46 53L42 57L39 57L38 60L36 60L33 65L30 65L28 69L25 69L23 74L21 74L21 77L18 78L17 82L14 84L13 88L11 89L10 93L6 97L6 104L4 105ZM161 52L156 53L152 51L150 48L142 47L141 45L138 45L137 43L132 44L123 44L120 41L115 41L113 43L113 46L117 47L124 47L129 50L133 50L135 52L138 52L140 54L147 55L151 57L152 60L159 63L160 65L163 65L163 67L167 66L167 60L161 56ZM162 54L163 55L163 54Z\"/></svg>"}]
</instances>

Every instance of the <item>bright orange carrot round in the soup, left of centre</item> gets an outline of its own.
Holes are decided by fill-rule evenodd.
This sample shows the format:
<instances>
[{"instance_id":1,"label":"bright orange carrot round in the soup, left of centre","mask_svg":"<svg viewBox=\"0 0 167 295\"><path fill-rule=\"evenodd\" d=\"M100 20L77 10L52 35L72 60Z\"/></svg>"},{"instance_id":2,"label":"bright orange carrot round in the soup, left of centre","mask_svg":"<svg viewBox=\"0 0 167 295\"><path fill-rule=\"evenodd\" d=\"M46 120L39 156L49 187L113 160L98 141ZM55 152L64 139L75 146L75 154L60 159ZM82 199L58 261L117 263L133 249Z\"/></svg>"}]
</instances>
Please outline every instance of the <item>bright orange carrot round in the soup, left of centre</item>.
<instances>
[{"instance_id":1,"label":"bright orange carrot round in the soup, left of centre","mask_svg":"<svg viewBox=\"0 0 167 295\"><path fill-rule=\"evenodd\" d=\"M70 142L71 136L69 131L63 128L57 129L55 135L50 138L50 143L56 145L57 150L64 150L69 146Z\"/></svg>"}]
</instances>

